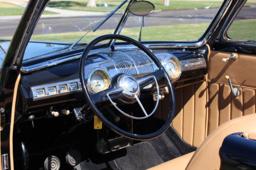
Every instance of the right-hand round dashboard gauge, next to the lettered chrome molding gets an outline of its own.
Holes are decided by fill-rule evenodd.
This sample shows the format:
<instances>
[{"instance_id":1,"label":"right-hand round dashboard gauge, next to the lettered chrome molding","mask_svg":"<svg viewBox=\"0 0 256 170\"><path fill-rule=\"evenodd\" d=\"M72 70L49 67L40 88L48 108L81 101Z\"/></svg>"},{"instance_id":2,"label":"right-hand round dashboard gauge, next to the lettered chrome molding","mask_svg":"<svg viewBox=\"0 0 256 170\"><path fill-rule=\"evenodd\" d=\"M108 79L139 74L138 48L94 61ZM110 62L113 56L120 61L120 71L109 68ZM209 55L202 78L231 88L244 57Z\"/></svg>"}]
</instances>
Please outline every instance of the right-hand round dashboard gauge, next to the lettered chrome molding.
<instances>
[{"instance_id":1,"label":"right-hand round dashboard gauge, next to the lettered chrome molding","mask_svg":"<svg viewBox=\"0 0 256 170\"><path fill-rule=\"evenodd\" d=\"M166 71L172 81L180 78L181 68L180 62L176 57L170 57L166 62Z\"/></svg>"}]
</instances>

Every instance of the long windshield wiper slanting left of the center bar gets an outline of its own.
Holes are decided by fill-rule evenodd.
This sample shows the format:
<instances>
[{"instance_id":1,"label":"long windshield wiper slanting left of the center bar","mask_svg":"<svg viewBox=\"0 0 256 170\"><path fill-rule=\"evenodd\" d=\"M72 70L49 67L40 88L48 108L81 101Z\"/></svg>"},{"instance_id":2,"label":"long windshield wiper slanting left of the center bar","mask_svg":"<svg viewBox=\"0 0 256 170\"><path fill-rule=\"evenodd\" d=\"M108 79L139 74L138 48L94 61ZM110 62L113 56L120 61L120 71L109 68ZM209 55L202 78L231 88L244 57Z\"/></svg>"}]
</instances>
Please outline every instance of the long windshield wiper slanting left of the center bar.
<instances>
[{"instance_id":1,"label":"long windshield wiper slanting left of the center bar","mask_svg":"<svg viewBox=\"0 0 256 170\"><path fill-rule=\"evenodd\" d=\"M119 10L119 8L121 8L125 3L127 2L127 0L124 0L118 7L116 7L116 9L114 9L113 11L111 11L105 18L103 18L99 23L97 23L95 26L93 26L93 28L91 28L86 34L84 34L81 38L79 38L76 42L74 42L72 45L70 45L70 47L68 48L68 50L72 50L72 48L84 37L86 36L90 31L93 30L93 32L95 32L100 26L102 26L102 24L104 24L113 14L116 13L116 11Z\"/></svg>"}]
</instances>

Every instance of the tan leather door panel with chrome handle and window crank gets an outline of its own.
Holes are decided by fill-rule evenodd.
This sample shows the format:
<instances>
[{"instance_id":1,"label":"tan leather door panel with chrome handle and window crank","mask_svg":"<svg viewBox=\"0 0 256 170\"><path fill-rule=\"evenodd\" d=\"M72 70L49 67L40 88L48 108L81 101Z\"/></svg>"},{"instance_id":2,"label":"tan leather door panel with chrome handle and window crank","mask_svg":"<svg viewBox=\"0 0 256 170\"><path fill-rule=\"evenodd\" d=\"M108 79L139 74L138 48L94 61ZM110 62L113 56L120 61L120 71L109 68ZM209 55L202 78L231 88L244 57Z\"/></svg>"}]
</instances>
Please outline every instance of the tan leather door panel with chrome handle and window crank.
<instances>
[{"instance_id":1,"label":"tan leather door panel with chrome handle and window crank","mask_svg":"<svg viewBox=\"0 0 256 170\"><path fill-rule=\"evenodd\" d=\"M256 57L239 54L237 60L222 62L231 53L212 51L209 57L209 122L208 134L230 119L255 113ZM230 76L233 87L239 88L240 96L231 95L225 76Z\"/></svg>"}]
</instances>

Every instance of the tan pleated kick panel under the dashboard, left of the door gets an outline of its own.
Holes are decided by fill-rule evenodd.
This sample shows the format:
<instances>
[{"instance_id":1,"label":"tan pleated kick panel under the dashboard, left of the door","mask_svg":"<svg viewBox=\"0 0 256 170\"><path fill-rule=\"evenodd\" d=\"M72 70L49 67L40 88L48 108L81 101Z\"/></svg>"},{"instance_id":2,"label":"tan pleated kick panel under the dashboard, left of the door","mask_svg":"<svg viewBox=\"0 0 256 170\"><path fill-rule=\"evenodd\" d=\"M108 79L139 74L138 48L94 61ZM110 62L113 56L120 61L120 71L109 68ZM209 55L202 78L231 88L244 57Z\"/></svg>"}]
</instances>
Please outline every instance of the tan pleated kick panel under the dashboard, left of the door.
<instances>
[{"instance_id":1,"label":"tan pleated kick panel under the dashboard, left of the door","mask_svg":"<svg viewBox=\"0 0 256 170\"><path fill-rule=\"evenodd\" d=\"M175 100L172 126L187 144L198 147L207 131L206 82L175 89Z\"/></svg>"}]
</instances>

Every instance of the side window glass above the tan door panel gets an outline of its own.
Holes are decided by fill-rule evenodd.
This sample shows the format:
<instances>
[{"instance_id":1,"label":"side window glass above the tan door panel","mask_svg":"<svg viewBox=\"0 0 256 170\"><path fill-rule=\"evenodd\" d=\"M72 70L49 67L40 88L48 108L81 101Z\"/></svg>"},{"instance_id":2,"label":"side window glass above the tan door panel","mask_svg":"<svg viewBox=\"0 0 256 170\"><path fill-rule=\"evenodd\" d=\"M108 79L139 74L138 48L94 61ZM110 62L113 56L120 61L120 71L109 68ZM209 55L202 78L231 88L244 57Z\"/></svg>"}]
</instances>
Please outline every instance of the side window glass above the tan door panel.
<instances>
[{"instance_id":1,"label":"side window glass above the tan door panel","mask_svg":"<svg viewBox=\"0 0 256 170\"><path fill-rule=\"evenodd\" d=\"M256 0L248 0L227 31L228 40L256 40Z\"/></svg>"}]
</instances>

